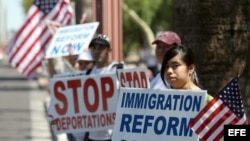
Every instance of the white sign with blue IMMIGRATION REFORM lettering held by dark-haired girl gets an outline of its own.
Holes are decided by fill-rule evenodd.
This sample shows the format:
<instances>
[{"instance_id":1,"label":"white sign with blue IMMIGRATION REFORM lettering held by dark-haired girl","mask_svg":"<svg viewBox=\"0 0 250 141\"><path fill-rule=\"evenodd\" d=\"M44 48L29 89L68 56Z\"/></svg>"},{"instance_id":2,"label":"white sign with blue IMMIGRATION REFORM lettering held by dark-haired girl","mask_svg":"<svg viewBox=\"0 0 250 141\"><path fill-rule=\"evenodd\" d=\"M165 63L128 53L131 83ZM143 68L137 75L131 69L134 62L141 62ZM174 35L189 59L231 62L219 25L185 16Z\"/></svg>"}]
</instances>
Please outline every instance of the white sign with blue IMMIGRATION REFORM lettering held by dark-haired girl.
<instances>
[{"instance_id":1,"label":"white sign with blue IMMIGRATION REFORM lettering held by dark-haired girl","mask_svg":"<svg viewBox=\"0 0 250 141\"><path fill-rule=\"evenodd\" d=\"M121 88L114 141L198 141L188 123L204 107L206 91Z\"/></svg>"}]
</instances>

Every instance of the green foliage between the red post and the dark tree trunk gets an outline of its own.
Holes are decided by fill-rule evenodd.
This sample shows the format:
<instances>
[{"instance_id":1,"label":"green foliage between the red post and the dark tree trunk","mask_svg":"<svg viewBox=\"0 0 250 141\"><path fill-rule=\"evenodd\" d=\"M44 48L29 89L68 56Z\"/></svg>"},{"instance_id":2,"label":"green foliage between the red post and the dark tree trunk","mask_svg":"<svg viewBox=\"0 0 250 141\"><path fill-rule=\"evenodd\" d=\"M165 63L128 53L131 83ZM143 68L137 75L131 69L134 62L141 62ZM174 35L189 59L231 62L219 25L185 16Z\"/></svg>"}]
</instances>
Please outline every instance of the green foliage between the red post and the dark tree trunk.
<instances>
[{"instance_id":1,"label":"green foliage between the red post and the dark tree trunk","mask_svg":"<svg viewBox=\"0 0 250 141\"><path fill-rule=\"evenodd\" d=\"M171 28L172 0L124 0L143 19L154 33ZM144 48L145 35L131 17L123 12L123 52Z\"/></svg>"}]
</instances>

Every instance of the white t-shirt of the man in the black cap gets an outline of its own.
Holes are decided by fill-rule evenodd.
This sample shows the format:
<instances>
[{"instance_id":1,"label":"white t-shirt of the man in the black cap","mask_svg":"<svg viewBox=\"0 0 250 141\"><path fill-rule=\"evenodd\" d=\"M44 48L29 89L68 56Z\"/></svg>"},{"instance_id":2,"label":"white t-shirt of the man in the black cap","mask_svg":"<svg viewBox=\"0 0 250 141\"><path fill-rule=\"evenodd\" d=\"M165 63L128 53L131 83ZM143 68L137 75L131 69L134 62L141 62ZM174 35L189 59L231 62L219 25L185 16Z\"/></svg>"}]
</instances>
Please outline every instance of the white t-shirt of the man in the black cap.
<instances>
[{"instance_id":1,"label":"white t-shirt of the man in the black cap","mask_svg":"<svg viewBox=\"0 0 250 141\"><path fill-rule=\"evenodd\" d=\"M97 69L96 66L93 67L90 74L106 74L106 73L116 73L115 64L117 62L110 63L107 67ZM89 132L89 139L91 140L110 140L112 137L112 129L103 131L92 131Z\"/></svg>"}]
</instances>

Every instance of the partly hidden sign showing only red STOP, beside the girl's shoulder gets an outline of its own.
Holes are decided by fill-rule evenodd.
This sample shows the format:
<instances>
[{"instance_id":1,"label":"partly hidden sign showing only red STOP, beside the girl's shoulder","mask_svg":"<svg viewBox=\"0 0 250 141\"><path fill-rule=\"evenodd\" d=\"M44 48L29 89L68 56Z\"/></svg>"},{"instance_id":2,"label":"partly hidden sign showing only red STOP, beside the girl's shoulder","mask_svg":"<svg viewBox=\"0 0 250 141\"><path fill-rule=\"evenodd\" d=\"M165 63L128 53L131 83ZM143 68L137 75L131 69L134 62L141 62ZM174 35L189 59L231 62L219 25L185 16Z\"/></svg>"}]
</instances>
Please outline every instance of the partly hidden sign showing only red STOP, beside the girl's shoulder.
<instances>
[{"instance_id":1,"label":"partly hidden sign showing only red STOP, beside the girl's shoulder","mask_svg":"<svg viewBox=\"0 0 250 141\"><path fill-rule=\"evenodd\" d=\"M120 87L149 88L149 77L146 68L118 69Z\"/></svg>"}]
</instances>

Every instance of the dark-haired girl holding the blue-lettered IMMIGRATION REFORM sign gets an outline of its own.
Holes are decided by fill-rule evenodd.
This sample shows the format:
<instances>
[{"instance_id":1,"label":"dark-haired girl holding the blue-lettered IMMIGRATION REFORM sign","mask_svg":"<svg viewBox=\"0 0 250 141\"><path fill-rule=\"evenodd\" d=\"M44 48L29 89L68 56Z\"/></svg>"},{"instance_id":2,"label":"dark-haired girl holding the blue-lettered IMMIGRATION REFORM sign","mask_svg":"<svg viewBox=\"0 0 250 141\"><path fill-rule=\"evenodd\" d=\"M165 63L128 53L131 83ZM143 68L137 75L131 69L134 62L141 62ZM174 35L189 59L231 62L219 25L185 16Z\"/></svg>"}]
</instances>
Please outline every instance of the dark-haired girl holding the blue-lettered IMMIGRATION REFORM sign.
<instances>
[{"instance_id":1,"label":"dark-haired girl holding the blue-lettered IMMIGRATION REFORM sign","mask_svg":"<svg viewBox=\"0 0 250 141\"><path fill-rule=\"evenodd\" d=\"M191 48L175 45L164 55L161 67L163 83L170 84L173 89L201 90L196 81L195 57ZM206 101L212 100L207 94Z\"/></svg>"}]
</instances>

